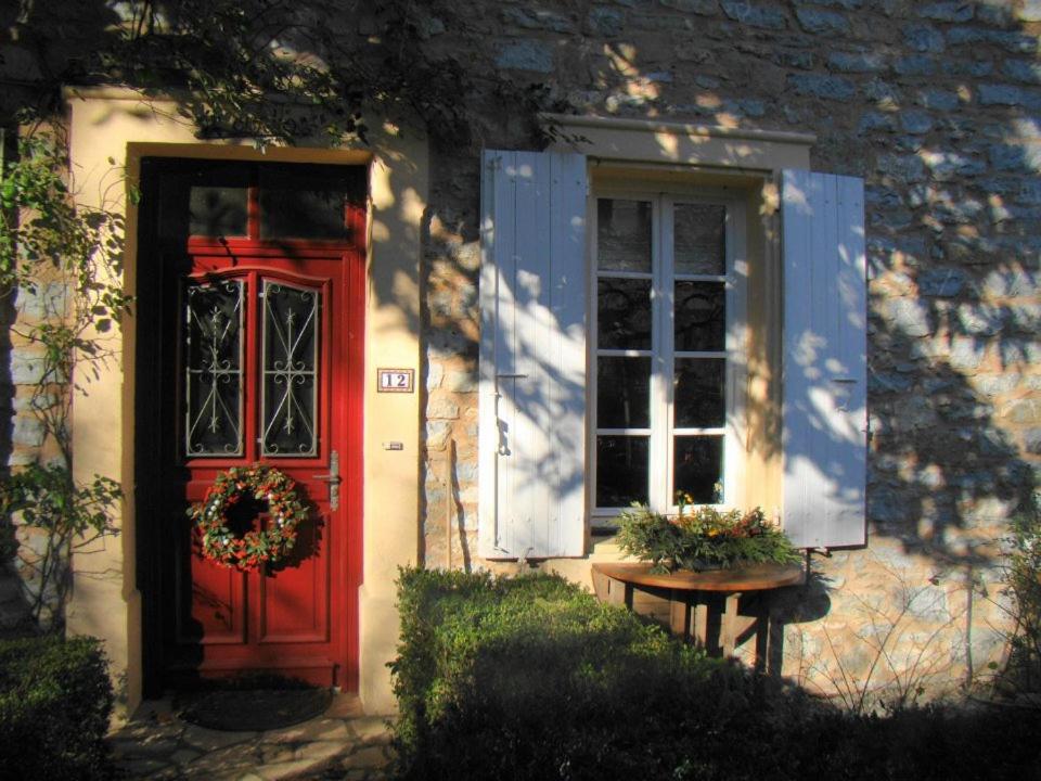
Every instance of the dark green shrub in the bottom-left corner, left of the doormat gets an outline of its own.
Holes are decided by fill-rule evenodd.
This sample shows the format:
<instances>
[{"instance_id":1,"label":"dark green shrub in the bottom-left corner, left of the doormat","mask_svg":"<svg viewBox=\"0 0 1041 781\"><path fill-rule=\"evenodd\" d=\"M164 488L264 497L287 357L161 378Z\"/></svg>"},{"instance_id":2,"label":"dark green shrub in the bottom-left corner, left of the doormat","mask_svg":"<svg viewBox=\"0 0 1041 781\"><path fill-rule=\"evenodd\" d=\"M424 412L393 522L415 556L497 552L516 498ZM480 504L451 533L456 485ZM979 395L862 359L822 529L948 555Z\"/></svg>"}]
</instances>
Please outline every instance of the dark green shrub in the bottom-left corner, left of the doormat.
<instances>
[{"instance_id":1,"label":"dark green shrub in the bottom-left corner, left of the doormat","mask_svg":"<svg viewBox=\"0 0 1041 781\"><path fill-rule=\"evenodd\" d=\"M104 779L113 693L93 638L0 641L4 779Z\"/></svg>"}]
</instances>

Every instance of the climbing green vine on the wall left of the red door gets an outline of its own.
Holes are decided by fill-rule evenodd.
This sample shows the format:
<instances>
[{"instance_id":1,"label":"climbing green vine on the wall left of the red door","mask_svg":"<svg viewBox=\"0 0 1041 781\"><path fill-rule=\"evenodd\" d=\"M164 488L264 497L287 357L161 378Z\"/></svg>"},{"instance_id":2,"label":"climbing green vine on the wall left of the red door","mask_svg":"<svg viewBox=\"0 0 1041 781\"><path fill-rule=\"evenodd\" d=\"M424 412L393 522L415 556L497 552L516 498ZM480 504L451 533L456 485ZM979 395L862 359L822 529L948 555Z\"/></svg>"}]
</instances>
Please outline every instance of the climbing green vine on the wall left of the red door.
<instances>
[{"instance_id":1,"label":"climbing green vine on the wall left of the red door","mask_svg":"<svg viewBox=\"0 0 1041 781\"><path fill-rule=\"evenodd\" d=\"M24 313L12 341L31 357L37 382L21 401L51 448L42 463L0 482L0 508L27 527L22 545L7 539L29 617L54 630L68 596L69 554L115 532L120 498L115 481L73 476L72 396L113 358L105 335L131 305L119 276L123 217L77 203L63 149L54 133L30 135L0 174L0 297Z\"/></svg>"}]
</instances>

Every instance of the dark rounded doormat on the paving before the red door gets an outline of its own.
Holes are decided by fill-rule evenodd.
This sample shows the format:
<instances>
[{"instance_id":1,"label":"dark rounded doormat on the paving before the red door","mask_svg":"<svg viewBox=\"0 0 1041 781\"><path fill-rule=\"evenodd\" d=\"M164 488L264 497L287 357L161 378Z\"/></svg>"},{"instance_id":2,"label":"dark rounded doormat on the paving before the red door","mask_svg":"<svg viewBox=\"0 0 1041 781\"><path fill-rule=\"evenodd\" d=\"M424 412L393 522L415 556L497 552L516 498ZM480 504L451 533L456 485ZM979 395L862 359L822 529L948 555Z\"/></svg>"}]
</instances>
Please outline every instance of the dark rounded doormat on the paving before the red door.
<instances>
[{"instance_id":1,"label":"dark rounded doormat on the paving before the red door","mask_svg":"<svg viewBox=\"0 0 1041 781\"><path fill-rule=\"evenodd\" d=\"M329 689L216 689L179 694L184 721L226 732L265 732L307 721L329 709Z\"/></svg>"}]
</instances>

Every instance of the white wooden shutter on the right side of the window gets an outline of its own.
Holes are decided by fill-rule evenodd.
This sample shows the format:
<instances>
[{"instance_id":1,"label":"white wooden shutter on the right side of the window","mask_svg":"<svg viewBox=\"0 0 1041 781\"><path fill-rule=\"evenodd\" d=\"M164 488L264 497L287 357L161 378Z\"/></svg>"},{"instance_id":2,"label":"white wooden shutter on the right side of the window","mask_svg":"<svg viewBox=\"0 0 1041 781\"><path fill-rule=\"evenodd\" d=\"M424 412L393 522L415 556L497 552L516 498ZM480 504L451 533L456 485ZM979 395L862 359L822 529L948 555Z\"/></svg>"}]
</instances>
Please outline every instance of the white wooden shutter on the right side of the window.
<instances>
[{"instance_id":1,"label":"white wooden shutter on the right side of the window","mask_svg":"<svg viewBox=\"0 0 1041 781\"><path fill-rule=\"evenodd\" d=\"M799 547L866 541L864 183L786 170L784 528Z\"/></svg>"}]
</instances>

